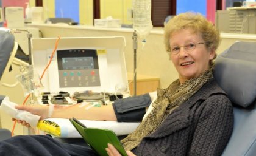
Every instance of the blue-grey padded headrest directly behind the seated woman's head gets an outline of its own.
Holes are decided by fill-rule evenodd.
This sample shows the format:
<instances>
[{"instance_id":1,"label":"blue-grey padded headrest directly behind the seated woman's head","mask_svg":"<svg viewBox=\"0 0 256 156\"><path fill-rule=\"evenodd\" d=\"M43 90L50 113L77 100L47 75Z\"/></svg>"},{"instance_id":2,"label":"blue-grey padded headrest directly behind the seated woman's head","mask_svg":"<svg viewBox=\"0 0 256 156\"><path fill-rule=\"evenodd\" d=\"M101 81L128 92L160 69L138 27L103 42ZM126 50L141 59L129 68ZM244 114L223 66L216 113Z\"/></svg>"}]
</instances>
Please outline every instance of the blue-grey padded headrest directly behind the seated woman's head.
<instances>
[{"instance_id":1,"label":"blue-grey padded headrest directly behind the seated woman's head","mask_svg":"<svg viewBox=\"0 0 256 156\"><path fill-rule=\"evenodd\" d=\"M215 60L213 76L233 104L247 107L256 98L256 42L235 42Z\"/></svg>"}]
</instances>

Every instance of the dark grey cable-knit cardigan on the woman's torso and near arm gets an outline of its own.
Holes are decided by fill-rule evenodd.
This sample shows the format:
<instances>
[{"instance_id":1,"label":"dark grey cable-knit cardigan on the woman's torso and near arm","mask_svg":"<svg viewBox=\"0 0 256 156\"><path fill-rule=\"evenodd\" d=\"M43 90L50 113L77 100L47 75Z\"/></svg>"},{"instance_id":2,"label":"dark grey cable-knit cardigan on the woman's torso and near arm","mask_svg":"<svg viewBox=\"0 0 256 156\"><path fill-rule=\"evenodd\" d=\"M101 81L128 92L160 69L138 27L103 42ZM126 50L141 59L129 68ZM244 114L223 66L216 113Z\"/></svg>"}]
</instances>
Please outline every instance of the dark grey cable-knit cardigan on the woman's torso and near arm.
<instances>
[{"instance_id":1,"label":"dark grey cable-knit cardigan on the woman's torso and near arm","mask_svg":"<svg viewBox=\"0 0 256 156\"><path fill-rule=\"evenodd\" d=\"M233 107L215 80L210 80L137 148L141 155L221 155L233 130Z\"/></svg>"}]
</instances>

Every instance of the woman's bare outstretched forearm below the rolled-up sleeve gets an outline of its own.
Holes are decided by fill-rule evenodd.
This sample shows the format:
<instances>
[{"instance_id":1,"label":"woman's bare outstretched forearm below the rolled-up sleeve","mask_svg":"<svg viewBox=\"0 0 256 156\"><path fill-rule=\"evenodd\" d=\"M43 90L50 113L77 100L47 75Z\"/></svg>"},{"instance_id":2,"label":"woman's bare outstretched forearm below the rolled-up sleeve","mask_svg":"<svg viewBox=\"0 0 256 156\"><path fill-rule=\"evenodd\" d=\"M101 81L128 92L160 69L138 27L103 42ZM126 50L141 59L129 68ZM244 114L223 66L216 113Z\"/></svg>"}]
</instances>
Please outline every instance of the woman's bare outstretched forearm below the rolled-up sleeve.
<instances>
[{"instance_id":1,"label":"woman's bare outstretched forearm below the rolled-up sleeve","mask_svg":"<svg viewBox=\"0 0 256 156\"><path fill-rule=\"evenodd\" d=\"M81 104L73 106L55 106L51 118L77 118L84 120L99 121L117 121L115 112L111 104L102 105L101 107L82 107Z\"/></svg>"}]
</instances>

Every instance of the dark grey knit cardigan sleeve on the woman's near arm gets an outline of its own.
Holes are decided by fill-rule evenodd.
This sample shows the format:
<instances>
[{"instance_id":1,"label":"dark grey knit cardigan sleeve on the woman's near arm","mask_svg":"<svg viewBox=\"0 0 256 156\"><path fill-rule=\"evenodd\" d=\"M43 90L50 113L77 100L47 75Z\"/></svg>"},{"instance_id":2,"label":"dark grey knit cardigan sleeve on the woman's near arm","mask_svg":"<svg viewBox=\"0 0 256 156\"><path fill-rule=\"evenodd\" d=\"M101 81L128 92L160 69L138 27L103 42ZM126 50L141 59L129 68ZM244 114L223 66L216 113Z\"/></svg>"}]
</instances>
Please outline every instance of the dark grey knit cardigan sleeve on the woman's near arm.
<instances>
[{"instance_id":1,"label":"dark grey knit cardigan sleeve on the woman's near arm","mask_svg":"<svg viewBox=\"0 0 256 156\"><path fill-rule=\"evenodd\" d=\"M233 131L232 104L225 95L212 95L202 104L188 155L221 155Z\"/></svg>"}]
</instances>

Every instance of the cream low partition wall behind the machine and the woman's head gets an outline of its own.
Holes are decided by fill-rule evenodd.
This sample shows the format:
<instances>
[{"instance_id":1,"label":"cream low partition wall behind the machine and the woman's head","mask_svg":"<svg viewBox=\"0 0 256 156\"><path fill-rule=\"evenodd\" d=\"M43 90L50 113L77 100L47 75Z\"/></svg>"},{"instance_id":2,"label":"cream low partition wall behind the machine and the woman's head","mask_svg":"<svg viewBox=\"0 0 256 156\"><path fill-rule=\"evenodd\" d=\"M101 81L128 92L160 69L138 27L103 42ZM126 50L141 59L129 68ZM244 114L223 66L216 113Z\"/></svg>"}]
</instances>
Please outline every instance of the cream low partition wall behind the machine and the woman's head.
<instances>
[{"instance_id":1,"label":"cream low partition wall behind the machine and the woman's head","mask_svg":"<svg viewBox=\"0 0 256 156\"><path fill-rule=\"evenodd\" d=\"M38 27L43 37L79 37L79 36L124 36L126 38L126 67L127 72L133 72L133 29L108 29L85 26L63 25L30 25ZM221 53L236 41L256 41L256 35L221 33L221 45L218 52ZM138 38L137 49L137 73L160 78L160 87L168 87L178 78L177 72L168 58L163 44L162 28L154 28L146 38L146 44L142 49L141 38Z\"/></svg>"}]
</instances>

